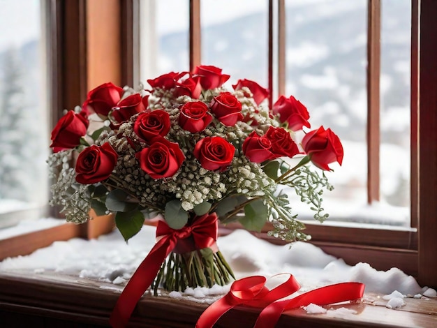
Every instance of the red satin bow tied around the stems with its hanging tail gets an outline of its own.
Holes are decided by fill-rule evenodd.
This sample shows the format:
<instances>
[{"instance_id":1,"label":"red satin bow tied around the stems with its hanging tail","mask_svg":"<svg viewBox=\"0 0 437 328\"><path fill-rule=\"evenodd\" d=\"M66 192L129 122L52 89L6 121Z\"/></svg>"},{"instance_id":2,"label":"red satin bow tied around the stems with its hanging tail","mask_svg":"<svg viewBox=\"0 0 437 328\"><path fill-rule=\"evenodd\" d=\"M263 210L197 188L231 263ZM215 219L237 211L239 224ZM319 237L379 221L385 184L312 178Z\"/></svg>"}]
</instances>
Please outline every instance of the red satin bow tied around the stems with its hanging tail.
<instances>
[{"instance_id":1,"label":"red satin bow tied around the stems with its hanging tail","mask_svg":"<svg viewBox=\"0 0 437 328\"><path fill-rule=\"evenodd\" d=\"M126 327L133 309L156 277L161 264L179 241L192 237L194 249L213 246L217 239L217 215L198 216L193 224L179 230L170 228L164 221L158 222L156 237L161 237L141 262L121 293L111 313L110 324L114 328Z\"/></svg>"}]
</instances>

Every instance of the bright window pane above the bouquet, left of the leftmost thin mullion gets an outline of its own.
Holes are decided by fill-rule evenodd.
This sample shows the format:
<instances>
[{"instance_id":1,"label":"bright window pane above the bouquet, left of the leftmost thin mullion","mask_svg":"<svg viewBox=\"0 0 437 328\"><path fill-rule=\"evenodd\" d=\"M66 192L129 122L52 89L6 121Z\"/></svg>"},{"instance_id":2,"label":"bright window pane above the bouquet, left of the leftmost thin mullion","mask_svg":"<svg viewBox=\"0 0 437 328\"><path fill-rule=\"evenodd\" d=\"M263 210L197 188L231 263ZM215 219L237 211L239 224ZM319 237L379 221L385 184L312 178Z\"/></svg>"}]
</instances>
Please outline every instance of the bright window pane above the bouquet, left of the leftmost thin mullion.
<instances>
[{"instance_id":1,"label":"bright window pane above the bouquet, left of the leftmost thin mullion","mask_svg":"<svg viewBox=\"0 0 437 328\"><path fill-rule=\"evenodd\" d=\"M170 8L170 9L169 9ZM140 80L189 70L188 0L140 2Z\"/></svg>"}]
</instances>

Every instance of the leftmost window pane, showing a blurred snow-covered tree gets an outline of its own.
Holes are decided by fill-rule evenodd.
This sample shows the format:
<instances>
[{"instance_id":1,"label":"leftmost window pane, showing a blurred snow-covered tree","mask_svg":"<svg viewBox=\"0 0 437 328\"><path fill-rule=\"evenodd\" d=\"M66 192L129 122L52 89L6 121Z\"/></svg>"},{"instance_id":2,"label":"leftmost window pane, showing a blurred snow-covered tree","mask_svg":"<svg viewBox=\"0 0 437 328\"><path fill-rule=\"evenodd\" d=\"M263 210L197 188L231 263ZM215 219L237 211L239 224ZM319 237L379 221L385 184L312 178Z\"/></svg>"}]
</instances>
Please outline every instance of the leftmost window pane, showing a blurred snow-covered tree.
<instances>
[{"instance_id":1,"label":"leftmost window pane, showing a blurred snow-covered tree","mask_svg":"<svg viewBox=\"0 0 437 328\"><path fill-rule=\"evenodd\" d=\"M47 204L49 137L40 1L1 0L0 6L0 29L8 31L0 36L0 226L5 226L38 217Z\"/></svg>"}]
</instances>

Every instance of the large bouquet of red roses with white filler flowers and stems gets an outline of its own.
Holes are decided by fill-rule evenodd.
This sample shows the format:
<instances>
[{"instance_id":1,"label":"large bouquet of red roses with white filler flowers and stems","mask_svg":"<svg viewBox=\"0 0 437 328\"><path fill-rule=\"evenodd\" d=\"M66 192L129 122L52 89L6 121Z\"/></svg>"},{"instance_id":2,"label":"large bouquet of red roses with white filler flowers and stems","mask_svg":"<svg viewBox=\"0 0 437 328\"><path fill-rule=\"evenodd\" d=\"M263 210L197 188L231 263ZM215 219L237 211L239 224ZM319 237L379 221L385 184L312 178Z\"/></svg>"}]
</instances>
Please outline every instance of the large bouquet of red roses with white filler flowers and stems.
<instances>
[{"instance_id":1,"label":"large bouquet of red roses with white filler flowers and stems","mask_svg":"<svg viewBox=\"0 0 437 328\"><path fill-rule=\"evenodd\" d=\"M327 218L320 195L332 187L323 170L341 164L339 137L320 127L297 140L296 131L311 127L299 100L281 96L269 108L267 89L238 80L229 91L223 87L229 78L220 68L198 66L148 80L149 89L105 83L90 91L52 131L52 204L74 223L89 220L91 208L112 213L126 240L156 216L165 223L159 231L180 232L184 240L182 229L217 219L249 230L269 221L275 237L306 239L279 187L294 189L318 221ZM175 241L175 253L184 256L170 255L155 287L228 283L232 271L214 249L214 231L209 237Z\"/></svg>"}]
</instances>

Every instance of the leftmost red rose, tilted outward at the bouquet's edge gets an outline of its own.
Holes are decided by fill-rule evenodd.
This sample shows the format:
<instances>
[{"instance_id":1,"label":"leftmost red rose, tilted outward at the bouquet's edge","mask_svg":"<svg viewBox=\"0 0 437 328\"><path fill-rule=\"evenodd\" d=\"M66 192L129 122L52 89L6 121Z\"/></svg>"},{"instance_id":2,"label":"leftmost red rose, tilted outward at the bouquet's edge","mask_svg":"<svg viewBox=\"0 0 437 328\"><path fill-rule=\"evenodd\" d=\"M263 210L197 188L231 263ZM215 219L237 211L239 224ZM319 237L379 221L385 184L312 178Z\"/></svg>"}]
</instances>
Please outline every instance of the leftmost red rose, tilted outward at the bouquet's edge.
<instances>
[{"instance_id":1,"label":"leftmost red rose, tilted outward at the bouquet's edge","mask_svg":"<svg viewBox=\"0 0 437 328\"><path fill-rule=\"evenodd\" d=\"M87 134L88 124L83 115L69 110L54 127L50 147L54 147L54 152L76 147L80 144L80 138Z\"/></svg>"}]
</instances>

